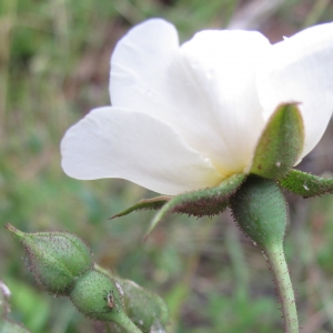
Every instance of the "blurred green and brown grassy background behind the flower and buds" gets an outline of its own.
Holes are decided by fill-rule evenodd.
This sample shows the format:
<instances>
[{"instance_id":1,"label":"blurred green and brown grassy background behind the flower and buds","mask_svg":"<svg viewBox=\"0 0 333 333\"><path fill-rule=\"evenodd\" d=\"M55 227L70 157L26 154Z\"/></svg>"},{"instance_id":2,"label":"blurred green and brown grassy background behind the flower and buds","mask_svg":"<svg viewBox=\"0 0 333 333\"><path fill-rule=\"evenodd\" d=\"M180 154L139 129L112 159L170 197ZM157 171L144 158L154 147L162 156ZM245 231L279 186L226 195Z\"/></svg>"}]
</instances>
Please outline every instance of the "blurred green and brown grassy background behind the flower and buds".
<instances>
[{"instance_id":1,"label":"blurred green and brown grassy background behind the flower and buds","mask_svg":"<svg viewBox=\"0 0 333 333\"><path fill-rule=\"evenodd\" d=\"M0 1L0 279L12 292L11 319L33 333L103 332L67 299L36 285L6 222L23 231L80 235L99 264L167 300L170 333L282 332L266 263L229 212L198 220L172 215L142 244L153 212L108 218L155 193L122 180L73 180L60 168L64 131L92 108L110 103L109 59L115 42L151 17L172 21L182 41L201 29L230 27L260 30L275 42L333 20L333 2ZM331 123L299 168L333 171L332 140ZM302 333L333 332L333 196L287 198L285 249Z\"/></svg>"}]
</instances>

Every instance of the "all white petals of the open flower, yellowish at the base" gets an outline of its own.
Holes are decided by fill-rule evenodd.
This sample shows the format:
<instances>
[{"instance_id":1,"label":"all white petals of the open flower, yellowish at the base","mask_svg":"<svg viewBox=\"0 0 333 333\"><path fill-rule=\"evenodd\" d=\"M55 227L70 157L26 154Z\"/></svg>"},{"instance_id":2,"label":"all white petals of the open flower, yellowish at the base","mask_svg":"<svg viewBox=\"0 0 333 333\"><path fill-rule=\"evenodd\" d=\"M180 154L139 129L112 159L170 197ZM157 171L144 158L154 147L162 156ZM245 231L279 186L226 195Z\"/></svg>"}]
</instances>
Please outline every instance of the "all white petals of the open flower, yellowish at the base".
<instances>
[{"instance_id":1,"label":"all white petals of the open flower, yellowish at the base","mask_svg":"<svg viewBox=\"0 0 333 333\"><path fill-rule=\"evenodd\" d=\"M92 110L61 143L72 178L122 178L175 195L249 173L265 125L297 102L299 161L333 110L333 23L276 44L254 31L205 30L179 44L162 19L131 29L111 57L112 107Z\"/></svg>"}]
</instances>

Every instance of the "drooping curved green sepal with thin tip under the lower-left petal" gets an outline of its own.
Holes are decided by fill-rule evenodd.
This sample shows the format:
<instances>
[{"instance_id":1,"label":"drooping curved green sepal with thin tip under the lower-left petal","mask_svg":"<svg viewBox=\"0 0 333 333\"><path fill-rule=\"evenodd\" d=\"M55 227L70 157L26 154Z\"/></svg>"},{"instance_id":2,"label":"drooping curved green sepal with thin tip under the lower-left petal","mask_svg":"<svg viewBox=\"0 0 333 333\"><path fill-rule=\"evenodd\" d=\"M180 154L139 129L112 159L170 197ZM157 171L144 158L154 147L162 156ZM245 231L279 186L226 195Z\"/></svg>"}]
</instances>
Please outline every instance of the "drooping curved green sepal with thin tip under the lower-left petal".
<instances>
[{"instance_id":1,"label":"drooping curved green sepal with thin tip under the lower-left petal","mask_svg":"<svg viewBox=\"0 0 333 333\"><path fill-rule=\"evenodd\" d=\"M185 213L198 218L220 214L226 209L229 198L236 192L245 178L246 174L244 173L235 173L223 180L218 186L173 196L157 213L144 235L144 240L168 213Z\"/></svg>"}]
</instances>

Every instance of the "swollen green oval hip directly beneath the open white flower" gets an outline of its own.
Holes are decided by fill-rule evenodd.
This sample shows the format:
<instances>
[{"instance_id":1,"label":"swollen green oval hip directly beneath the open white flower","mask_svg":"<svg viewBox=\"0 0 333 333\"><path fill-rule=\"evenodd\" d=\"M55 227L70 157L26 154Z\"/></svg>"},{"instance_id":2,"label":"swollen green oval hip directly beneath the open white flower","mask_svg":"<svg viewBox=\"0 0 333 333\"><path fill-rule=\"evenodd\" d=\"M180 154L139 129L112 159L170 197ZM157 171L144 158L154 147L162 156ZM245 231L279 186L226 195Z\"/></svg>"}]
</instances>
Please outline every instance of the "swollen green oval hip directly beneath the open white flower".
<instances>
[{"instance_id":1,"label":"swollen green oval hip directly beneath the open white flower","mask_svg":"<svg viewBox=\"0 0 333 333\"><path fill-rule=\"evenodd\" d=\"M261 250L282 246L289 212L274 181L250 175L231 198L230 206L236 223Z\"/></svg>"}]
</instances>

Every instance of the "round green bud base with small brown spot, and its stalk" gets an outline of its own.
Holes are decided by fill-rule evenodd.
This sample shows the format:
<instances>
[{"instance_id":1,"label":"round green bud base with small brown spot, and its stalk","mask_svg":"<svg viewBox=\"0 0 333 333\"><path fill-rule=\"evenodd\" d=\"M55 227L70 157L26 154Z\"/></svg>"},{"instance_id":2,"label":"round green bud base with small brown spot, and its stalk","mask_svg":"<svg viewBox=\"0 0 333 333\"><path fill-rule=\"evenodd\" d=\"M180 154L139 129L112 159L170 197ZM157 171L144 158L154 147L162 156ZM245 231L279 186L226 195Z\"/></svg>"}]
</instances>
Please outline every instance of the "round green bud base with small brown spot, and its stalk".
<instances>
[{"instance_id":1,"label":"round green bud base with small brown spot, and its stalk","mask_svg":"<svg viewBox=\"0 0 333 333\"><path fill-rule=\"evenodd\" d=\"M73 305L85 316L113 322L129 332L141 332L125 315L122 297L120 284L94 270L78 279L70 293Z\"/></svg>"}]
</instances>

